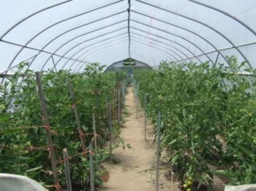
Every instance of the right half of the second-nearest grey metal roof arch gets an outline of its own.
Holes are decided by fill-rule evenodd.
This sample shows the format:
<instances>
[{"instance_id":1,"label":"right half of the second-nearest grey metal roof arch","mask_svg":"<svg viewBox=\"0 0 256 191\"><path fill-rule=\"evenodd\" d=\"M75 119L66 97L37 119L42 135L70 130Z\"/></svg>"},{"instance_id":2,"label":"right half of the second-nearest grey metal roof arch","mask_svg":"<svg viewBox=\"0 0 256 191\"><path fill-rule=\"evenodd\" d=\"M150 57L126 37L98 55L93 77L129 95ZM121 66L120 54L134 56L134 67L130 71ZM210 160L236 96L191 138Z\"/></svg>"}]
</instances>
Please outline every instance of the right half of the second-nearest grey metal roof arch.
<instances>
[{"instance_id":1,"label":"right half of the second-nearest grey metal roof arch","mask_svg":"<svg viewBox=\"0 0 256 191\"><path fill-rule=\"evenodd\" d=\"M228 42L233 46L233 48L235 48L235 49L241 54L241 56L244 58L244 60L247 62L247 64L252 68L251 63L248 61L248 59L245 57L245 55L233 44L233 42L232 42L227 36L225 36L224 34L222 34L221 32L219 32L218 30L214 29L213 27L211 27L211 26L209 26L209 25L207 25L207 24L205 24L204 22L201 22L201 21L199 21L199 20L196 20L196 19L187 17L187 16L182 15L182 14L179 14L179 13L175 13L174 11L170 11L170 10L164 9L164 8L162 8L162 7L159 7L159 6L152 5L152 4L150 4L150 3L147 3L147 2L144 2L144 1L141 1L141 0L135 0L135 1L138 1L138 2L140 2L140 3L144 3L144 4L146 4L146 5L155 7L155 8L157 8L157 9L162 10L162 11L166 11L166 12L168 12L168 13L172 13L172 14L174 14L174 15L177 15L177 16L180 16L180 17L183 17L183 18L186 18L186 19L188 19L188 20L195 21L195 22L200 23L201 25L203 25L203 26L205 26L205 27L207 27L207 28L210 28L211 30L213 30L214 32L216 32L217 34L219 34L219 35L221 35L223 38L225 38L226 41L228 41Z\"/></svg>"}]
</instances>

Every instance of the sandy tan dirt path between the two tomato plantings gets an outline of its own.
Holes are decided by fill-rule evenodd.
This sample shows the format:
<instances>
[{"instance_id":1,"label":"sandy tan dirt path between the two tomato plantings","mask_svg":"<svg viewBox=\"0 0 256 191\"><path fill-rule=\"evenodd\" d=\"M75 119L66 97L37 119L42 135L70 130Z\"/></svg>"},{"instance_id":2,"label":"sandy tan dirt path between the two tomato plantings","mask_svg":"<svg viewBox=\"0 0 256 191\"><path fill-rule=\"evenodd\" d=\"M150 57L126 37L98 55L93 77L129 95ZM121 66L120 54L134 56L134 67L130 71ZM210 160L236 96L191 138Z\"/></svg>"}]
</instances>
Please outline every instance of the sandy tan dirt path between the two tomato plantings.
<instances>
[{"instance_id":1,"label":"sandy tan dirt path between the two tomato plantings","mask_svg":"<svg viewBox=\"0 0 256 191\"><path fill-rule=\"evenodd\" d=\"M153 143L153 129L151 124L147 124L147 140L144 140L144 114L141 108L136 118L136 108L134 108L132 87L128 87L128 94L125 99L126 109L130 115L125 117L120 137L125 143L130 143L134 149L122 147L114 150L114 158L120 160L118 164L111 162L103 165L110 173L108 182L104 182L102 191L152 191L155 190L155 145ZM177 183L171 184L166 180L165 174L170 170L168 159L161 158L159 191L177 188ZM176 189L173 189L173 191Z\"/></svg>"}]
</instances>

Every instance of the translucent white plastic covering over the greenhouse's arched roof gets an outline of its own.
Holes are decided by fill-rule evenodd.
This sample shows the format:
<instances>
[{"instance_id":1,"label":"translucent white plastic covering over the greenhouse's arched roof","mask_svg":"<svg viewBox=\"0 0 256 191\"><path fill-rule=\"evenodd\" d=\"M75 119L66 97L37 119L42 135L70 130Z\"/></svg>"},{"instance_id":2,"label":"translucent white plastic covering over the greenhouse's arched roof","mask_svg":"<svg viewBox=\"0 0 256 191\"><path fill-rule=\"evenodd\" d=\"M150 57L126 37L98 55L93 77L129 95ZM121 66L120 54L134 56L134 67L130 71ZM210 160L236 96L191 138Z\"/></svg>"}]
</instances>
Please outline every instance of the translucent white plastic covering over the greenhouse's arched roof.
<instances>
[{"instance_id":1,"label":"translucent white plastic covering over the greenhouse's arched roof","mask_svg":"<svg viewBox=\"0 0 256 191\"><path fill-rule=\"evenodd\" d=\"M126 58L256 67L255 0L1 0L0 74Z\"/></svg>"}]
</instances>

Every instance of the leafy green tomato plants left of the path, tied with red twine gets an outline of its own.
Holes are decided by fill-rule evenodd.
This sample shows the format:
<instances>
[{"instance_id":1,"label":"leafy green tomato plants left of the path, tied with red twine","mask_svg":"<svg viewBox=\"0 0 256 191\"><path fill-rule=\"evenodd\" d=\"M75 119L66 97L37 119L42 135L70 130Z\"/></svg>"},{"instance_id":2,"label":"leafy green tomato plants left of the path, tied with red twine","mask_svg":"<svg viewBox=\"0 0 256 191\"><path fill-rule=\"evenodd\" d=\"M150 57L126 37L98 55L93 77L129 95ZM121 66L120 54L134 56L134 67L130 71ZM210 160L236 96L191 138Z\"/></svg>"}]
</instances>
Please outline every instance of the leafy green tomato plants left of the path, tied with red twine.
<instances>
[{"instance_id":1,"label":"leafy green tomato plants left of the path, tied with red twine","mask_svg":"<svg viewBox=\"0 0 256 191\"><path fill-rule=\"evenodd\" d=\"M94 155L95 185L100 185L102 174L105 173L100 164L110 157L111 110L112 137L115 138L112 150L120 142L124 143L118 137L115 104L117 89L126 74L102 73L104 66L97 63L87 65L81 74L65 70L41 73L49 118L47 126L41 112L35 73L24 71L27 65L21 63L19 70L0 86L0 172L26 175L50 190L60 190L58 185L54 185L53 164L50 160L55 154L60 186L64 189L66 178L62 149L67 148L73 190L83 190L89 186L89 153ZM71 99L68 78L75 102ZM77 110L81 130L77 129L74 108ZM97 134L93 131L93 113ZM48 144L46 132L51 134L52 146ZM94 143L94 137L97 138L97 148L91 151L88 146L90 142ZM85 150L81 148L82 142Z\"/></svg>"}]
</instances>

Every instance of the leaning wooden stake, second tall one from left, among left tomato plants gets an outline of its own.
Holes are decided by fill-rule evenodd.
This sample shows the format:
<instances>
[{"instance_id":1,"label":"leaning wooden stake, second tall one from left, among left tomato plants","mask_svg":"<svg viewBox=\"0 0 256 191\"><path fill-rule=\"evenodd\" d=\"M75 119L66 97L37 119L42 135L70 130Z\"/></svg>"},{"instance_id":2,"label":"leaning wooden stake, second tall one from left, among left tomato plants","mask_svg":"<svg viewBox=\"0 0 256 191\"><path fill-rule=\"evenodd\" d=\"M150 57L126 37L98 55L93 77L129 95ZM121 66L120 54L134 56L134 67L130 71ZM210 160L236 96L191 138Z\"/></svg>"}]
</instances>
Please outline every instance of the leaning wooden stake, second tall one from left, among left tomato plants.
<instances>
[{"instance_id":1,"label":"leaning wooden stake, second tall one from left, among left tomato plants","mask_svg":"<svg viewBox=\"0 0 256 191\"><path fill-rule=\"evenodd\" d=\"M68 82L70 97L71 97L72 104L73 104L73 110L74 110L74 114L75 114L75 121L76 121L76 125L77 125L77 130L79 131L79 138L80 138L82 150L83 150L83 153L85 154L87 152L86 152L86 148L85 148L85 144L84 144L84 138L83 138L83 135L82 135L82 129L81 129L80 121L79 121L79 116L78 116L77 109L76 109L75 96L74 96L74 92L73 92L72 85L71 85L69 77L67 78L67 82ZM86 158L86 154L85 154L85 158Z\"/></svg>"}]
</instances>

